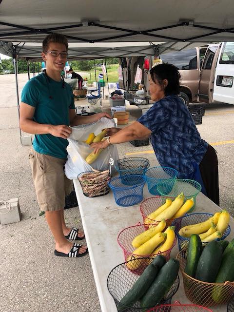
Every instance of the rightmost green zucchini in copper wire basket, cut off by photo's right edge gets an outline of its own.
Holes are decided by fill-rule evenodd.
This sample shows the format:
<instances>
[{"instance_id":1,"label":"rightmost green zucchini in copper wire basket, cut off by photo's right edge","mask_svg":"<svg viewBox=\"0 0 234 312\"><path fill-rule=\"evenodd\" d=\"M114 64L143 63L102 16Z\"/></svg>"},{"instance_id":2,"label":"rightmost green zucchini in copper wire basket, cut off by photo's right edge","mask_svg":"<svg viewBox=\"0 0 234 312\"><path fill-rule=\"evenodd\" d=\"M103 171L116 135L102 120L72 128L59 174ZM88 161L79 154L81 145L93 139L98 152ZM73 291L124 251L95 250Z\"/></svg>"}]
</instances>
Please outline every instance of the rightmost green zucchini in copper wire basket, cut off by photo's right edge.
<instances>
[{"instance_id":1,"label":"rightmost green zucchini in copper wire basket, cut off by photo's right edge","mask_svg":"<svg viewBox=\"0 0 234 312\"><path fill-rule=\"evenodd\" d=\"M234 244L232 242L228 244L223 253L222 262L215 278L215 283L225 283L227 281L234 282ZM216 303L221 302L224 292L225 287L215 286L212 291L213 300Z\"/></svg>"}]
</instances>

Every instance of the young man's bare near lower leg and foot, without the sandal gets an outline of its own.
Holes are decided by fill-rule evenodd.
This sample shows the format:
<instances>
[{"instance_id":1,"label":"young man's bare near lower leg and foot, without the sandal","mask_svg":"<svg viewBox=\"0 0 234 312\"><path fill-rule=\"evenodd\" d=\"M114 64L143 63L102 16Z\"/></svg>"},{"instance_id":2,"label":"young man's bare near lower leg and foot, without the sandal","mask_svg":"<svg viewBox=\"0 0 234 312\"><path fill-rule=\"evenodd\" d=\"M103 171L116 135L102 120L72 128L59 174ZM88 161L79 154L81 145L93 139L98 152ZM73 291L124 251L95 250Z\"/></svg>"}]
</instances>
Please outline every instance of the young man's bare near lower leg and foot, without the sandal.
<instances>
[{"instance_id":1,"label":"young man's bare near lower leg and foot, without the sandal","mask_svg":"<svg viewBox=\"0 0 234 312\"><path fill-rule=\"evenodd\" d=\"M73 243L69 242L64 237L62 230L61 210L46 211L45 217L55 239L55 249L60 253L68 254L73 246ZM86 251L86 249L87 249L86 246L82 246L79 249L78 253L83 254Z\"/></svg>"}]
</instances>

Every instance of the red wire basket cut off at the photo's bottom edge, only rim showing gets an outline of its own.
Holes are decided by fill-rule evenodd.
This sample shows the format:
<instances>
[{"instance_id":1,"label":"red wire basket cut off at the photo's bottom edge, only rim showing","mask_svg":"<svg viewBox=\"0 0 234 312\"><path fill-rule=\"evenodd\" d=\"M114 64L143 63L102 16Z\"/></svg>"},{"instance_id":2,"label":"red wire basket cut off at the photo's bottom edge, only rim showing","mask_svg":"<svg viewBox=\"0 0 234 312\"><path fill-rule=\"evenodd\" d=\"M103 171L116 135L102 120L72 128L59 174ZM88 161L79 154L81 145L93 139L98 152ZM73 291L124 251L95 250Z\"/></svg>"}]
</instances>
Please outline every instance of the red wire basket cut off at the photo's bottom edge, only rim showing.
<instances>
[{"instance_id":1,"label":"red wire basket cut off at the photo's bottom edge, only rim showing","mask_svg":"<svg viewBox=\"0 0 234 312\"><path fill-rule=\"evenodd\" d=\"M213 312L211 309L196 304L181 304L176 301L174 304L162 304L147 312Z\"/></svg>"}]
</instances>

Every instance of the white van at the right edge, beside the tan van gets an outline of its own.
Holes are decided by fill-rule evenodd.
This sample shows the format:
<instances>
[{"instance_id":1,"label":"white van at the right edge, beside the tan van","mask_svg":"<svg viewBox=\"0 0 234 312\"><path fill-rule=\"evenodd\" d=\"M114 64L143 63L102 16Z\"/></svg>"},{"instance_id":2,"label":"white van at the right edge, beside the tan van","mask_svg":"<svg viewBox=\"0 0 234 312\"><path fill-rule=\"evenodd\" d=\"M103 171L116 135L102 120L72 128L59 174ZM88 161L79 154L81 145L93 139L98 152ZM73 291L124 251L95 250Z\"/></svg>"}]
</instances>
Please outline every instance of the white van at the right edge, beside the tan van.
<instances>
[{"instance_id":1,"label":"white van at the right edge, beside the tan van","mask_svg":"<svg viewBox=\"0 0 234 312\"><path fill-rule=\"evenodd\" d=\"M234 42L222 42L215 69L213 98L234 104Z\"/></svg>"}]
</instances>

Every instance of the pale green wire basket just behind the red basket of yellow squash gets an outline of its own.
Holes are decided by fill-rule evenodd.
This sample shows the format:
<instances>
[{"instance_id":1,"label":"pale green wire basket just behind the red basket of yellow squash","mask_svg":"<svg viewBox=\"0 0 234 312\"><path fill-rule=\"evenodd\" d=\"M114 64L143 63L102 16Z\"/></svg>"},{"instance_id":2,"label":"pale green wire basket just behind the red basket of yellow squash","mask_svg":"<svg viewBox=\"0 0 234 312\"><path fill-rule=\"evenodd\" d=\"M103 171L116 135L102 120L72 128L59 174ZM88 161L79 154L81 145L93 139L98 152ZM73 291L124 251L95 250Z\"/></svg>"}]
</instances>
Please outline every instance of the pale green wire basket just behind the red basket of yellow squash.
<instances>
[{"instance_id":1,"label":"pale green wire basket just behind the red basket of yellow squash","mask_svg":"<svg viewBox=\"0 0 234 312\"><path fill-rule=\"evenodd\" d=\"M194 198L194 205L190 209L188 213L191 213L196 205L196 196L201 191L201 185L200 183L196 182L195 180L189 180L189 179L176 179L175 184L171 190L170 193L167 193L168 191L168 185L166 182L159 183L157 185L157 191L160 195L168 195L172 197L178 196L181 192L184 193L184 200L190 199L191 197Z\"/></svg>"}]
</instances>

